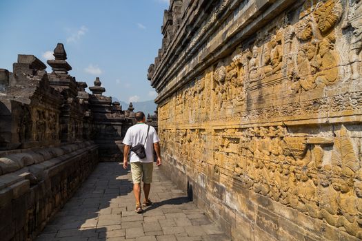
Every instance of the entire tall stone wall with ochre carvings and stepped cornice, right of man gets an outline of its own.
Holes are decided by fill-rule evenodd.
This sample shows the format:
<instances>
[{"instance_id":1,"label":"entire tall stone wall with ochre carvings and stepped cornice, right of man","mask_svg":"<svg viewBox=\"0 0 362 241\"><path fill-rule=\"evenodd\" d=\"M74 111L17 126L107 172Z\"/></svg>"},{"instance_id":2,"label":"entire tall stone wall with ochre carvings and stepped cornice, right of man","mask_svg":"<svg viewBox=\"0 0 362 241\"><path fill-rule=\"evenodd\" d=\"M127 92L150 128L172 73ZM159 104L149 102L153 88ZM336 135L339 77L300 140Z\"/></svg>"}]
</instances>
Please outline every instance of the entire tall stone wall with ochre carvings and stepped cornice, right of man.
<instances>
[{"instance_id":1,"label":"entire tall stone wall with ochre carvings and stepped cornice, right of man","mask_svg":"<svg viewBox=\"0 0 362 241\"><path fill-rule=\"evenodd\" d=\"M165 173L232 240L361 239L362 1L175 2L148 70Z\"/></svg>"}]
</instances>

